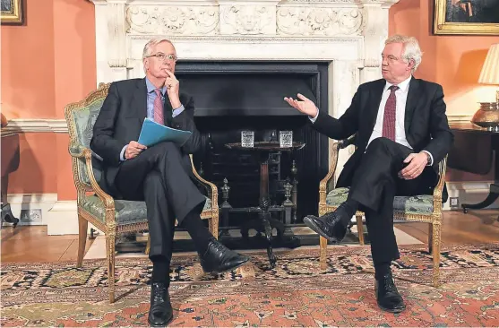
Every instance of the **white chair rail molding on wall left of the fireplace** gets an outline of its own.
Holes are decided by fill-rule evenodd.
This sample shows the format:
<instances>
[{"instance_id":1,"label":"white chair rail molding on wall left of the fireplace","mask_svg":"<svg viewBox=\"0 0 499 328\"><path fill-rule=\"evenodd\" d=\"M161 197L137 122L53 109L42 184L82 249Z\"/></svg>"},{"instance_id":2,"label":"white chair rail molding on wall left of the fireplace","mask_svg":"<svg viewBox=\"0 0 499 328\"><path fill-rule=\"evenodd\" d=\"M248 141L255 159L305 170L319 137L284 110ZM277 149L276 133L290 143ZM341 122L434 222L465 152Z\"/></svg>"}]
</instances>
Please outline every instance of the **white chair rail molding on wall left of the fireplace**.
<instances>
[{"instance_id":1,"label":"white chair rail molding on wall left of the fireplace","mask_svg":"<svg viewBox=\"0 0 499 328\"><path fill-rule=\"evenodd\" d=\"M2 135L27 132L68 133L65 119L16 118L10 120L9 125L2 128Z\"/></svg>"}]
</instances>

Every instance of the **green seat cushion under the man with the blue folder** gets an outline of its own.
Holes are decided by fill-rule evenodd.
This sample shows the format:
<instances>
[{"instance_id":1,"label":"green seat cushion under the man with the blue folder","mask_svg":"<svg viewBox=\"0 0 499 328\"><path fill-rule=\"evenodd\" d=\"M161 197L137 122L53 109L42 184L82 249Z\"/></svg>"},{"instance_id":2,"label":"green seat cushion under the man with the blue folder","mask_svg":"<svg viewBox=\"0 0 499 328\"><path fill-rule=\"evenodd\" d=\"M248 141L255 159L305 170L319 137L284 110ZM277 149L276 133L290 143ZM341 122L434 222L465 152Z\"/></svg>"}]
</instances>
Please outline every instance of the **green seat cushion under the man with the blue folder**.
<instances>
[{"instance_id":1,"label":"green seat cushion under the man with the blue folder","mask_svg":"<svg viewBox=\"0 0 499 328\"><path fill-rule=\"evenodd\" d=\"M85 211L88 211L94 217L98 218L102 222L105 222L106 210L104 203L102 203L97 195L84 197L80 203L80 206L82 206ZM147 209L145 202L115 200L115 209L116 225L118 226L147 221ZM202 211L210 210L211 199L206 197L206 202L204 203Z\"/></svg>"}]
</instances>

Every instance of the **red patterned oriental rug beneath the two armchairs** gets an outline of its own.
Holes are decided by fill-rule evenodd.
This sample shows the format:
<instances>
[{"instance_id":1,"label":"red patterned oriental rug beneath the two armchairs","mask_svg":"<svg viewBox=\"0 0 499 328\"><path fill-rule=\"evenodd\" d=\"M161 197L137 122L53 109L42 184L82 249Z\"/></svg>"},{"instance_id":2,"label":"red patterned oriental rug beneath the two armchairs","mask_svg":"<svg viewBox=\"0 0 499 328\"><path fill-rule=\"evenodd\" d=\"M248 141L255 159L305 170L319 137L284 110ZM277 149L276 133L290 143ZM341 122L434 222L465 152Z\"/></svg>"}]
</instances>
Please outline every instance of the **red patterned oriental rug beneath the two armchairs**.
<instances>
[{"instance_id":1,"label":"red patterned oriental rug beneath the two armchairs","mask_svg":"<svg viewBox=\"0 0 499 328\"><path fill-rule=\"evenodd\" d=\"M368 246L330 247L328 270L317 247L264 252L218 277L202 275L197 257L175 255L170 295L172 326L498 326L499 244L443 249L443 285L431 286L431 256L422 246L401 247L394 276L408 308L378 309ZM115 304L108 303L106 263L3 264L2 326L147 325L147 259L118 259Z\"/></svg>"}]
</instances>

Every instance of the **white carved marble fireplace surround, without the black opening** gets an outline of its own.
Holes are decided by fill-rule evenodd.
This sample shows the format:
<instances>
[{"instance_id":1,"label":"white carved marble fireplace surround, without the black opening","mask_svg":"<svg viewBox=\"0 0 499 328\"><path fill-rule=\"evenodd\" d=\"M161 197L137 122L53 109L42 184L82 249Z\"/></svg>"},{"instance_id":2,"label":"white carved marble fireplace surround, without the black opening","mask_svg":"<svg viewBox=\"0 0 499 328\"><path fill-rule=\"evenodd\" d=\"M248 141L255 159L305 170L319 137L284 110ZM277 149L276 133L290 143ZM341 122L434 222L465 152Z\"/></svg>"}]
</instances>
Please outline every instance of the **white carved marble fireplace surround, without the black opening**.
<instances>
[{"instance_id":1,"label":"white carved marble fireplace surround, without the black opening","mask_svg":"<svg viewBox=\"0 0 499 328\"><path fill-rule=\"evenodd\" d=\"M360 83L381 77L388 10L399 0L91 1L98 83L143 77L143 46L167 38L179 60L327 61L328 112L340 117Z\"/></svg>"}]
</instances>

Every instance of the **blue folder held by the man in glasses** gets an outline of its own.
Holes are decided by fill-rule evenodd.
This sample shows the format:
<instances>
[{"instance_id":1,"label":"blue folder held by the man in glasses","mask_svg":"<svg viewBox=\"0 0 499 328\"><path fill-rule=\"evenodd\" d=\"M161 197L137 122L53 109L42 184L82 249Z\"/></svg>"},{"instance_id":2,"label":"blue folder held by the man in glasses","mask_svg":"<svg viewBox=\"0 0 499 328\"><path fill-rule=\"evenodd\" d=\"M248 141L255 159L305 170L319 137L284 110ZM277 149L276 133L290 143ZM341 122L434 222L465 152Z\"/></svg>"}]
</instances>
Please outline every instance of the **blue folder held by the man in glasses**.
<instances>
[{"instance_id":1,"label":"blue folder held by the man in glasses","mask_svg":"<svg viewBox=\"0 0 499 328\"><path fill-rule=\"evenodd\" d=\"M165 125L160 125L146 117L137 142L147 147L151 147L159 142L175 142L180 147L189 139L191 134L193 133L190 131L176 130Z\"/></svg>"}]
</instances>

